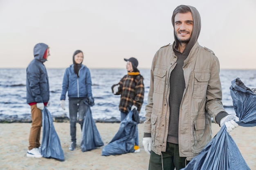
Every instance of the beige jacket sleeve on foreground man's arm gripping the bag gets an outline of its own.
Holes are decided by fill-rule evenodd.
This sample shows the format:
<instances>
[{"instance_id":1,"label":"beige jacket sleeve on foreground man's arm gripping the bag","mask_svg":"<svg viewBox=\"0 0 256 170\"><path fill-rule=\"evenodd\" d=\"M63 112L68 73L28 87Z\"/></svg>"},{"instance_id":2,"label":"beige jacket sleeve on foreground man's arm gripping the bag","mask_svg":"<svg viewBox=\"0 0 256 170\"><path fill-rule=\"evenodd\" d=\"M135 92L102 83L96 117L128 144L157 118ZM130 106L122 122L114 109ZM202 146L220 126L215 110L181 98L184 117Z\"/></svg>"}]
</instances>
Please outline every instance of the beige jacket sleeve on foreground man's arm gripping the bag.
<instances>
[{"instance_id":1,"label":"beige jacket sleeve on foreground man's arm gripping the bag","mask_svg":"<svg viewBox=\"0 0 256 170\"><path fill-rule=\"evenodd\" d=\"M218 58L214 56L213 65L211 67L210 79L206 94L206 111L213 117L216 122L218 113L225 111L222 104L222 88L220 82L220 63Z\"/></svg>"}]
</instances>

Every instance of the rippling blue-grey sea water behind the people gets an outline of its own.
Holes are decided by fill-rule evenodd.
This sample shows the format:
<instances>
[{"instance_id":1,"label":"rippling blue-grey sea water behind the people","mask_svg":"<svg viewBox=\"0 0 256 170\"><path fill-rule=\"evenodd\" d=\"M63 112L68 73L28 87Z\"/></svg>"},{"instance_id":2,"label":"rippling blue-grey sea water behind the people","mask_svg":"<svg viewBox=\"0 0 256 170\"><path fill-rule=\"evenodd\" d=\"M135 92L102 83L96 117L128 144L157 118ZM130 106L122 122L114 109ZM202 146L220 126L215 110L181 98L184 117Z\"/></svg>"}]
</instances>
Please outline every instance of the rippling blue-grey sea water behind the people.
<instances>
[{"instance_id":1,"label":"rippling blue-grey sea water behind the people","mask_svg":"<svg viewBox=\"0 0 256 170\"><path fill-rule=\"evenodd\" d=\"M60 95L65 69L47 69L50 86L50 106L53 117L67 116L68 97L65 100L65 110L60 107ZM126 69L90 69L92 76L92 94L95 105L91 107L92 116L96 120L116 118L120 120L119 95L113 95L111 86L127 74ZM147 104L150 69L140 69L144 77L144 103L140 118L145 119L145 106ZM249 88L256 87L256 70L220 70L222 83L222 102L228 113L234 114L232 98L229 87L231 81L239 77ZM0 69L0 119L11 116L14 119L30 116L30 106L26 103L26 69Z\"/></svg>"}]
</instances>

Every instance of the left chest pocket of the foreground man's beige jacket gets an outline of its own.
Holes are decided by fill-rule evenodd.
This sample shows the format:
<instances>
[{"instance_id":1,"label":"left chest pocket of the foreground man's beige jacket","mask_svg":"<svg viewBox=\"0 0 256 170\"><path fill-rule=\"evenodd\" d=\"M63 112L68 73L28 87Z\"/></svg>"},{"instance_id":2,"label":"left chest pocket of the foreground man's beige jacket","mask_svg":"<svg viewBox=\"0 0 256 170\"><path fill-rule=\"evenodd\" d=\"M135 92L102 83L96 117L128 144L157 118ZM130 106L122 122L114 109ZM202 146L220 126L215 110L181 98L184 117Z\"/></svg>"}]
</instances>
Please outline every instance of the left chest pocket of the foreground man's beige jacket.
<instances>
[{"instance_id":1,"label":"left chest pocket of the foreground man's beige jacket","mask_svg":"<svg viewBox=\"0 0 256 170\"><path fill-rule=\"evenodd\" d=\"M154 70L154 92L164 94L166 70L155 68Z\"/></svg>"}]
</instances>

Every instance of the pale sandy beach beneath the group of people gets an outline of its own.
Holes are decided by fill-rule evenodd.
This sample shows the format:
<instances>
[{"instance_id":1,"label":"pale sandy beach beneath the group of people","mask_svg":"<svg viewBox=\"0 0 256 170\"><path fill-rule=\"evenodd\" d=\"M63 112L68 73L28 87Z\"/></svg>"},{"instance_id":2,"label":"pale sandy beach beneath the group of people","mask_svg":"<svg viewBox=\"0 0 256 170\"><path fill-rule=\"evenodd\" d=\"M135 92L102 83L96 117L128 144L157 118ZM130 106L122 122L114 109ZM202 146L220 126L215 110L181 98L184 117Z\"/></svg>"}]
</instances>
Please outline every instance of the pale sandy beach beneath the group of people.
<instances>
[{"instance_id":1,"label":"pale sandy beach beneath the group of people","mask_svg":"<svg viewBox=\"0 0 256 170\"><path fill-rule=\"evenodd\" d=\"M142 146L143 124L139 124L140 153L127 153L115 156L101 156L101 148L82 152L80 149L81 130L77 128L77 148L68 150L70 145L70 124L54 122L54 127L61 140L65 161L47 158L26 157L30 123L0 124L0 169L45 169L45 170L147 170L149 155ZM119 123L96 123L104 144L110 142L119 129ZM217 124L212 124L213 136L219 131ZM79 124L77 124L79 127ZM242 153L247 165L256 170L256 127L239 126L230 133ZM42 132L41 132L42 139Z\"/></svg>"}]
</instances>

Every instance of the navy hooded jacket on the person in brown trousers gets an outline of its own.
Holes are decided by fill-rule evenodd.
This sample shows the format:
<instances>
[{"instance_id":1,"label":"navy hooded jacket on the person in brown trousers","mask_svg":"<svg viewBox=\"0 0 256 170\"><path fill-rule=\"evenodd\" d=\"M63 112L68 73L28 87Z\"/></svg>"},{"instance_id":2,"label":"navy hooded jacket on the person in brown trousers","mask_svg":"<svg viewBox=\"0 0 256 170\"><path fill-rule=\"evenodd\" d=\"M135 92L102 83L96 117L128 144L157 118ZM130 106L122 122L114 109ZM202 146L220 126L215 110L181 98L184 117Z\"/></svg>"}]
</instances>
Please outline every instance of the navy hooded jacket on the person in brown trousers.
<instances>
[{"instance_id":1,"label":"navy hooded jacket on the person in brown trousers","mask_svg":"<svg viewBox=\"0 0 256 170\"><path fill-rule=\"evenodd\" d=\"M34 47L34 60L27 67L27 103L48 102L50 97L48 75L43 58L48 46L38 43Z\"/></svg>"}]
</instances>

